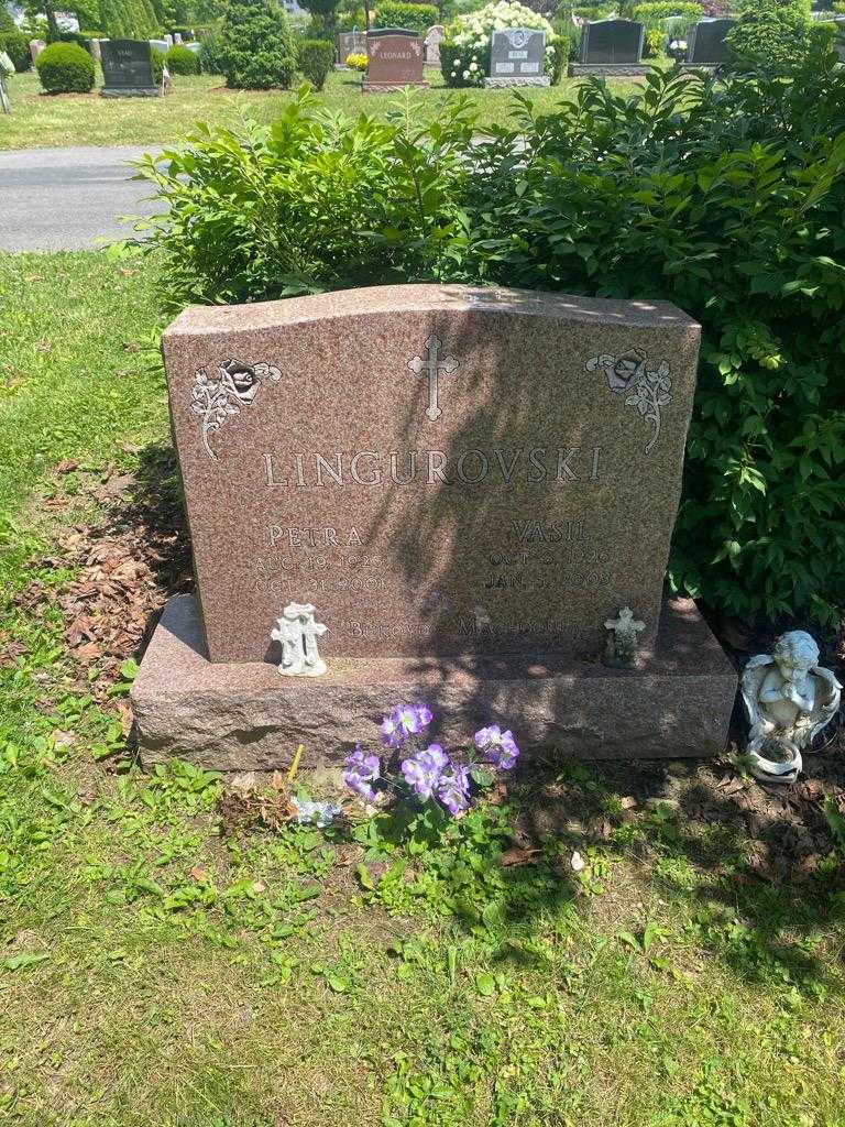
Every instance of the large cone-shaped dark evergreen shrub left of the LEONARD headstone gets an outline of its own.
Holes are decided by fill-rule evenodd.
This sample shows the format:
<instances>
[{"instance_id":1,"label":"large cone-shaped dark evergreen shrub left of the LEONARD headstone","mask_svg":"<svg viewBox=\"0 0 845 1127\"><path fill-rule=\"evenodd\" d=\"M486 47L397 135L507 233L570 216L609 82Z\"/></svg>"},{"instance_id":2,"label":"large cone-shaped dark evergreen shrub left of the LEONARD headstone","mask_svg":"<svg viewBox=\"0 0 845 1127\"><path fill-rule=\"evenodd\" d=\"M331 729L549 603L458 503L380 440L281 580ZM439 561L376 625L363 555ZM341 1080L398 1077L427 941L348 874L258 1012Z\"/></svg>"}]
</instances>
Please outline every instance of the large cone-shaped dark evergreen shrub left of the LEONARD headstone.
<instances>
[{"instance_id":1,"label":"large cone-shaped dark evergreen shrub left of the LEONARD headstone","mask_svg":"<svg viewBox=\"0 0 845 1127\"><path fill-rule=\"evenodd\" d=\"M296 73L287 18L276 0L228 0L220 53L226 86L286 89Z\"/></svg>"}]
</instances>

